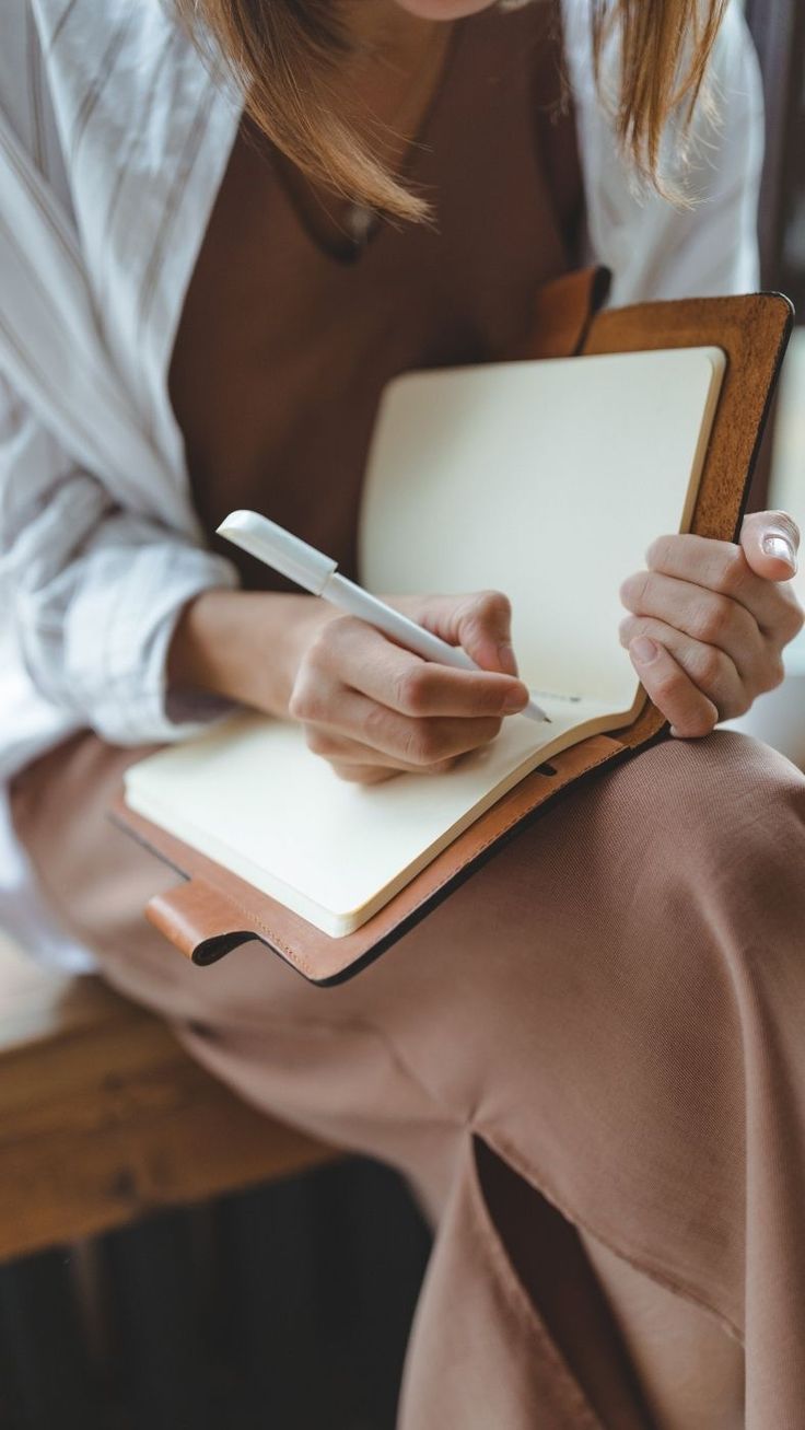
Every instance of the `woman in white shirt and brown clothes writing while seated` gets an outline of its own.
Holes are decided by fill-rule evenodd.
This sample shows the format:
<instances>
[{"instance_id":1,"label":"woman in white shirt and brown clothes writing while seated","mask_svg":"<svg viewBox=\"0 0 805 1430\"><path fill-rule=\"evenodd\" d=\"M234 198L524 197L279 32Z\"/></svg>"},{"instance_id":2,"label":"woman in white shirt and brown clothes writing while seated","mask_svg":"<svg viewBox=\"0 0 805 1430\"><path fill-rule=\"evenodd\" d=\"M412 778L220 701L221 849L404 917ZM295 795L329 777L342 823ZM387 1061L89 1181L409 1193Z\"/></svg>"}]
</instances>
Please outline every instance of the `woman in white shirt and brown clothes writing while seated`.
<instances>
[{"instance_id":1,"label":"woman in white shirt and brown clothes writing while seated","mask_svg":"<svg viewBox=\"0 0 805 1430\"><path fill-rule=\"evenodd\" d=\"M408 1173L438 1237L406 1430L798 1424L805 781L711 734L801 628L794 522L658 533L622 641L678 738L343 988L253 945L186 967L140 918L166 875L104 809L120 746L233 701L357 781L445 768L522 704L505 595L415 603L485 666L423 681L209 536L259 506L349 569L386 379L506 356L583 255L621 302L755 286L758 82L722 9L619 0L598 92L582 0L563 33L489 0L4 19L6 918L92 950L256 1105Z\"/></svg>"}]
</instances>

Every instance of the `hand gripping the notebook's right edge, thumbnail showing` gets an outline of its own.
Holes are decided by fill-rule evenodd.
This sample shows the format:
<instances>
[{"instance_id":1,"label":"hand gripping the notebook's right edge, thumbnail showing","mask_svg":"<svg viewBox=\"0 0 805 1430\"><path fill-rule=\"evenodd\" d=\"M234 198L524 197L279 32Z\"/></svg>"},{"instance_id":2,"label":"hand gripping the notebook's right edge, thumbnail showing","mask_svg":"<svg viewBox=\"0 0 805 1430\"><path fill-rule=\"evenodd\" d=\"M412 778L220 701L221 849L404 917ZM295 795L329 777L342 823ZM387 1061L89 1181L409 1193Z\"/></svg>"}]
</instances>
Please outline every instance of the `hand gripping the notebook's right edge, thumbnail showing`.
<instances>
[{"instance_id":1,"label":"hand gripping the notebook's right edge, thumbnail showing","mask_svg":"<svg viewBox=\"0 0 805 1430\"><path fill-rule=\"evenodd\" d=\"M746 516L739 545L661 536L648 571L621 586L632 612L621 644L673 735L709 735L782 682L784 646L805 621L786 585L798 548L791 516L758 512Z\"/></svg>"}]
</instances>

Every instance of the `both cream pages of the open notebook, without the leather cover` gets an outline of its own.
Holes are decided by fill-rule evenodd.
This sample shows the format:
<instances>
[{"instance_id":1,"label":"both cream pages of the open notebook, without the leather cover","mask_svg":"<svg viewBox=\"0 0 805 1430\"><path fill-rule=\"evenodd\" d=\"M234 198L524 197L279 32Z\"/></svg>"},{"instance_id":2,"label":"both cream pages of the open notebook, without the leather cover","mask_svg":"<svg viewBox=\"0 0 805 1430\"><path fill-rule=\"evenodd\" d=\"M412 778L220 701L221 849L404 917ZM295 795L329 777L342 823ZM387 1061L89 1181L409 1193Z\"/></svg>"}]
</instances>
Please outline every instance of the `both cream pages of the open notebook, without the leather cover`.
<instances>
[{"instance_id":1,"label":"both cream pages of the open notebook, without the leather cover","mask_svg":"<svg viewBox=\"0 0 805 1430\"><path fill-rule=\"evenodd\" d=\"M130 766L127 807L325 934L359 928L528 772L639 712L618 591L655 536L691 523L723 372L721 349L683 347L396 379L360 579L382 595L505 591L552 724L512 716L446 775L362 788L299 726L236 716Z\"/></svg>"}]
</instances>

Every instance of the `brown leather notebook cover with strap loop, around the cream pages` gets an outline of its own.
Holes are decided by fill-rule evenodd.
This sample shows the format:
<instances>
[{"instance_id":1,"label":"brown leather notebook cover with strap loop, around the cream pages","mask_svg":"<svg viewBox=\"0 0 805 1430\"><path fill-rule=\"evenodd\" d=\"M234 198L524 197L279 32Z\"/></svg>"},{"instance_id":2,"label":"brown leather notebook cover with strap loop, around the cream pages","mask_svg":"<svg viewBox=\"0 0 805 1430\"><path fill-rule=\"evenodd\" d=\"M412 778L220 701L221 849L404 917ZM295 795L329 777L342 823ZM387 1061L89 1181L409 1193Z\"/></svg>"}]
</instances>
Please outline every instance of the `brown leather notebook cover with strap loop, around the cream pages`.
<instances>
[{"instance_id":1,"label":"brown leather notebook cover with strap loop, around the cream pages","mask_svg":"<svg viewBox=\"0 0 805 1430\"><path fill-rule=\"evenodd\" d=\"M691 531L734 541L752 482L771 399L792 327L779 295L685 299L599 312L608 275L573 273L539 295L535 337L513 358L721 347L728 366ZM439 854L353 934L329 938L285 905L133 814L117 799L112 818L179 877L146 915L193 962L206 965L260 940L312 982L353 977L422 919L478 865L545 814L571 786L662 739L663 715L649 702L626 728L582 741L539 766Z\"/></svg>"}]
</instances>

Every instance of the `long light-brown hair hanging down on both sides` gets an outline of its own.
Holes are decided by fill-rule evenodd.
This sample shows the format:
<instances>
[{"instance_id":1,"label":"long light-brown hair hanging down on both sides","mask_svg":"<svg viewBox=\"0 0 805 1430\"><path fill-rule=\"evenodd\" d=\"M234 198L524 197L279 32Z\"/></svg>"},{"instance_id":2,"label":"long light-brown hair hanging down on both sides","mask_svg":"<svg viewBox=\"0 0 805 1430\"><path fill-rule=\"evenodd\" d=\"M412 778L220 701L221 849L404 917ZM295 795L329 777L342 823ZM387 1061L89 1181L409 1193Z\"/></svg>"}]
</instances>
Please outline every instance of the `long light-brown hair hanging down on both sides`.
<instances>
[{"instance_id":1,"label":"long light-brown hair hanging down on both sides","mask_svg":"<svg viewBox=\"0 0 805 1430\"><path fill-rule=\"evenodd\" d=\"M503 0L505 3L505 0ZM403 219L426 204L390 173L333 99L353 51L340 0L176 0L192 33L212 37L262 130L309 177ZM728 0L591 0L596 72L621 34L616 93L603 96L635 172L661 190L661 142L673 114L689 122Z\"/></svg>"}]
</instances>

